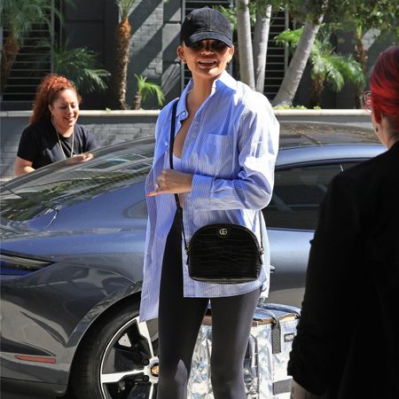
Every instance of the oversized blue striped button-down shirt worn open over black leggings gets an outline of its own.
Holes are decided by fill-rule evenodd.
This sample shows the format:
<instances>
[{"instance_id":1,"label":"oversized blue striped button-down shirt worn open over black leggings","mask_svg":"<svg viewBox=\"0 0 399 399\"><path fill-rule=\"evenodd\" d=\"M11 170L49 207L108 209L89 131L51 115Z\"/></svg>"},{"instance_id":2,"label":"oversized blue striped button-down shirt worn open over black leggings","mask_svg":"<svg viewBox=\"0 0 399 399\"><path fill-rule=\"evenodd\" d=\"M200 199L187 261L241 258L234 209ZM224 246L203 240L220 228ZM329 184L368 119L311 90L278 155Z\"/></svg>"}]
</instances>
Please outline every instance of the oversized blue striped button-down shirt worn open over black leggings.
<instances>
[{"instance_id":1,"label":"oversized blue striped button-down shirt worn open over black leggings","mask_svg":"<svg viewBox=\"0 0 399 399\"><path fill-rule=\"evenodd\" d=\"M187 117L186 96L192 82L178 100L176 133ZM172 102L173 103L173 102ZM168 151L172 103L165 106L156 125L153 168L145 191L153 191L162 169L169 168ZM181 170L193 175L192 192L184 193L186 239L209 223L239 223L254 231L265 249L258 280L243 284L209 284L188 276L183 254L184 296L221 297L253 291L269 291L270 251L264 223L256 210L270 202L274 166L278 153L279 125L269 101L224 72L211 94L194 116L184 141ZM160 272L168 231L176 214L173 194L147 197L148 226L140 319L158 317ZM184 243L182 244L184 245ZM170 287L170 289L174 289Z\"/></svg>"}]
</instances>

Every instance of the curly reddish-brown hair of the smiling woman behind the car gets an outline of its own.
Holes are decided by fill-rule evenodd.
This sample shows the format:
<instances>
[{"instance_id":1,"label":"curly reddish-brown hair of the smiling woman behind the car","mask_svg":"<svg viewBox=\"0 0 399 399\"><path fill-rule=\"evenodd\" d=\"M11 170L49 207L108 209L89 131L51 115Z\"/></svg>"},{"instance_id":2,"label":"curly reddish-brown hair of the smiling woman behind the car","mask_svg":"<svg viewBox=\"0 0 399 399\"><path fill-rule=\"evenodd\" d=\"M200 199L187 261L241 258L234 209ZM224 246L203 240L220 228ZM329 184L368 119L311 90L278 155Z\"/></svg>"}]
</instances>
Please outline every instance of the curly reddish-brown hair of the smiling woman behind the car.
<instances>
[{"instance_id":1,"label":"curly reddish-brown hair of the smiling woman behind the car","mask_svg":"<svg viewBox=\"0 0 399 399\"><path fill-rule=\"evenodd\" d=\"M59 74L47 74L36 90L35 103L33 113L29 119L29 123L33 124L40 121L44 117L50 117L49 106L57 101L59 93L62 90L74 90L79 104L82 97L74 87L74 84L66 79L65 76Z\"/></svg>"}]
</instances>

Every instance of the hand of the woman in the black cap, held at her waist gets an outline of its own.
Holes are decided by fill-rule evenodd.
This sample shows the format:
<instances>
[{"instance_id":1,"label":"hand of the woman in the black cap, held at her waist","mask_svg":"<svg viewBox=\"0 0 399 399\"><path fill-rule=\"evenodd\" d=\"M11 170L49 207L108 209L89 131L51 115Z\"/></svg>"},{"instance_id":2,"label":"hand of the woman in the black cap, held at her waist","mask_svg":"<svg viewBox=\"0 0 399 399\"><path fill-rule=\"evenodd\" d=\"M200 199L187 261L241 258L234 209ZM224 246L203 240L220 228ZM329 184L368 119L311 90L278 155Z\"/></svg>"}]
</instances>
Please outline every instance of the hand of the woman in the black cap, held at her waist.
<instances>
[{"instance_id":1,"label":"hand of the woman in the black cap, held at her waist","mask_svg":"<svg viewBox=\"0 0 399 399\"><path fill-rule=\"evenodd\" d=\"M147 197L158 194L180 194L192 191L192 175L174 169L164 169L157 177L153 192L147 192Z\"/></svg>"}]
</instances>

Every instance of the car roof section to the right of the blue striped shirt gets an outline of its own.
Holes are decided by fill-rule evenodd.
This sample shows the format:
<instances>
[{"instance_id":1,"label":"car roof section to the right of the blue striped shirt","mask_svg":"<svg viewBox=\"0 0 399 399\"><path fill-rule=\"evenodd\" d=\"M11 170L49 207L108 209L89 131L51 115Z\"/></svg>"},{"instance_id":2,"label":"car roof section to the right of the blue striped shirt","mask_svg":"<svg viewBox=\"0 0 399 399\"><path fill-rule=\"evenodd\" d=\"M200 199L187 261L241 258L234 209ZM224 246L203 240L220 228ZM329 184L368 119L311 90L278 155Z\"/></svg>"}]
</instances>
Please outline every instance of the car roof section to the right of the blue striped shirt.
<instances>
[{"instance_id":1,"label":"car roof section to the right of the blue striped shirt","mask_svg":"<svg viewBox=\"0 0 399 399\"><path fill-rule=\"evenodd\" d=\"M281 121L280 149L309 145L377 144L372 129L332 122Z\"/></svg>"}]
</instances>

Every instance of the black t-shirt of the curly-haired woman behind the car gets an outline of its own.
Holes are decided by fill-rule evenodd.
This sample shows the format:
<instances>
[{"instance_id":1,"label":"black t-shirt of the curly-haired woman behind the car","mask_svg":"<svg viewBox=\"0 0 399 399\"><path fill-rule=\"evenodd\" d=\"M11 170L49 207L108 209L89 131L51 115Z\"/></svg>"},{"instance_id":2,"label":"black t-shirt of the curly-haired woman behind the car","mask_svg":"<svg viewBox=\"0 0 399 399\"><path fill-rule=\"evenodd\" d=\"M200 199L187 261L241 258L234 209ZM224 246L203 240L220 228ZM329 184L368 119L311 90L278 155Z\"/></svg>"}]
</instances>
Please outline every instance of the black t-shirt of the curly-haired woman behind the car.
<instances>
[{"instance_id":1,"label":"black t-shirt of the curly-haired woman behind the car","mask_svg":"<svg viewBox=\"0 0 399 399\"><path fill-rule=\"evenodd\" d=\"M32 168L41 168L71 155L71 137L60 136L52 126L50 118L44 118L24 129L20 137L17 155L32 162ZM81 125L74 125L74 155L98 148L94 135Z\"/></svg>"}]
</instances>

